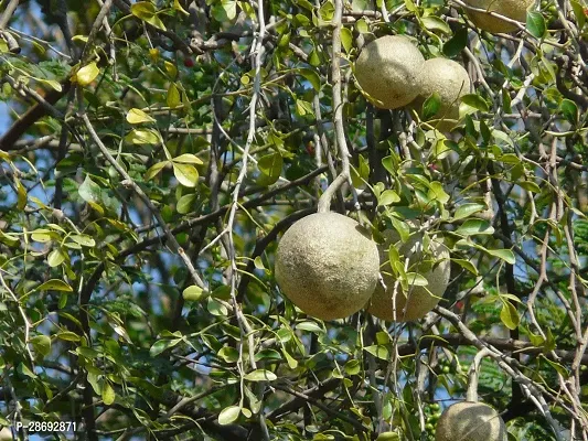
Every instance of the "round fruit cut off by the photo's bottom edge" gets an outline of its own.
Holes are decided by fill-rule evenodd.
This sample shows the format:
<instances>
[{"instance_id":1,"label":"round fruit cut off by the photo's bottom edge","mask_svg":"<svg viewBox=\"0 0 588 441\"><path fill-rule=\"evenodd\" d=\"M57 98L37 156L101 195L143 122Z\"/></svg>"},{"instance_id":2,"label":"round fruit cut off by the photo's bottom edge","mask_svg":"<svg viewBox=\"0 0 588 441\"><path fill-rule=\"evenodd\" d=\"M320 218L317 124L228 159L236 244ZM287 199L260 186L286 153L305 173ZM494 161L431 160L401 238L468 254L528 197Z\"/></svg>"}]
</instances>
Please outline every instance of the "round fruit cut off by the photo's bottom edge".
<instances>
[{"instance_id":1,"label":"round fruit cut off by the photo's bottom edge","mask_svg":"<svg viewBox=\"0 0 588 441\"><path fill-rule=\"evenodd\" d=\"M443 411L435 441L506 441L506 437L504 421L494 409L483 402L463 401Z\"/></svg>"}]
</instances>

